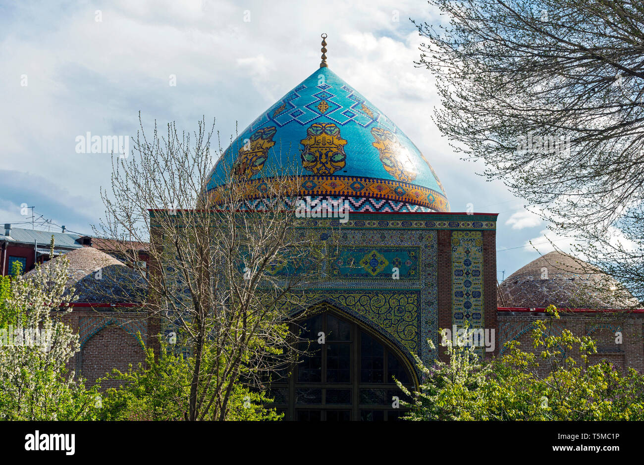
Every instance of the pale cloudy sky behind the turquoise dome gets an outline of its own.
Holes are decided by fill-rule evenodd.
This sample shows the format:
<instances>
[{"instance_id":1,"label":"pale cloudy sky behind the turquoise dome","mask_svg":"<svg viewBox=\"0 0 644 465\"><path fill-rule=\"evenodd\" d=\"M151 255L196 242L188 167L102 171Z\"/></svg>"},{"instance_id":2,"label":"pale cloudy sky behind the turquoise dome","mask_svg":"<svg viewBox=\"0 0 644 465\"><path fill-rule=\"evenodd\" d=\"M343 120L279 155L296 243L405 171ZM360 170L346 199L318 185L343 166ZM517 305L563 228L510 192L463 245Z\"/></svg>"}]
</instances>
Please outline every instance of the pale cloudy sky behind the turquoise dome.
<instances>
[{"instance_id":1,"label":"pale cloudy sky behind the turquoise dome","mask_svg":"<svg viewBox=\"0 0 644 465\"><path fill-rule=\"evenodd\" d=\"M52 223L39 229L91 234L111 160L77 153L77 137L135 135L141 111L148 128L174 120L193 131L202 115L216 118L225 142L316 70L326 32L330 69L415 142L452 211L499 213L498 278L507 277L539 256L530 240L551 250L547 225L441 137L410 17L438 21L422 0L0 1L0 223L31 227L27 204Z\"/></svg>"}]
</instances>

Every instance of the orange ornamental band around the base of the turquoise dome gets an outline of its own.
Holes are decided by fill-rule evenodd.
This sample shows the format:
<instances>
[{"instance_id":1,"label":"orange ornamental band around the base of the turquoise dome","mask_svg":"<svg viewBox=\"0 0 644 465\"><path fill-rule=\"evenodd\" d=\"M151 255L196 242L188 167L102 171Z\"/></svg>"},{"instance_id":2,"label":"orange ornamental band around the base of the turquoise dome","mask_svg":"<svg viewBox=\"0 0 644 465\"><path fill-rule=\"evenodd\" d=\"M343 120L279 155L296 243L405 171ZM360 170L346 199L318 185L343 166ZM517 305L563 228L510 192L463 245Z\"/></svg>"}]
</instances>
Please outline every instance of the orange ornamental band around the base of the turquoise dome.
<instances>
[{"instance_id":1,"label":"orange ornamental band around the base of the turquoise dome","mask_svg":"<svg viewBox=\"0 0 644 465\"><path fill-rule=\"evenodd\" d=\"M286 189L283 185L280 187L279 184L283 183L283 180L279 180L279 178L260 178L246 181L243 184L242 196L246 200L254 200L264 198L266 195L270 196L271 192L288 192L288 195L297 194L300 196L367 197L421 205L433 211L450 211L450 204L442 193L407 182L357 176L306 175L299 176L299 180L301 181L299 189L296 185L287 185ZM209 191L213 205L222 202L220 188L215 187Z\"/></svg>"}]
</instances>

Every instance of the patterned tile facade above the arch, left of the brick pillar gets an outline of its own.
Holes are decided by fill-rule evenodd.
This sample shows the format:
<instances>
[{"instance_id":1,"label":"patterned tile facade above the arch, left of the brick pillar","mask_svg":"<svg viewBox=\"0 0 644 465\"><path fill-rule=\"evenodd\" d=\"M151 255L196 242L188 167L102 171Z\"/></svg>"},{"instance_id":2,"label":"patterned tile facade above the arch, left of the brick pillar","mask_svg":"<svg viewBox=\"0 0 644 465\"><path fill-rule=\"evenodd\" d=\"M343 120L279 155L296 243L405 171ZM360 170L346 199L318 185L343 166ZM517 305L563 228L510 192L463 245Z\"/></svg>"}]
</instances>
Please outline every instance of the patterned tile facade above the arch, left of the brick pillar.
<instances>
[{"instance_id":1,"label":"patterned tile facade above the arch, left of the brick pillar","mask_svg":"<svg viewBox=\"0 0 644 465\"><path fill-rule=\"evenodd\" d=\"M302 228L303 234L312 242L323 242L331 232L324 226L332 222L316 220L315 228ZM406 352L412 365L411 354L431 363L437 354L427 339L437 341L438 334L436 232L342 225L339 234L340 246L327 267L329 280L310 285L298 309L327 301L369 322ZM399 279L393 279L394 265Z\"/></svg>"}]
</instances>

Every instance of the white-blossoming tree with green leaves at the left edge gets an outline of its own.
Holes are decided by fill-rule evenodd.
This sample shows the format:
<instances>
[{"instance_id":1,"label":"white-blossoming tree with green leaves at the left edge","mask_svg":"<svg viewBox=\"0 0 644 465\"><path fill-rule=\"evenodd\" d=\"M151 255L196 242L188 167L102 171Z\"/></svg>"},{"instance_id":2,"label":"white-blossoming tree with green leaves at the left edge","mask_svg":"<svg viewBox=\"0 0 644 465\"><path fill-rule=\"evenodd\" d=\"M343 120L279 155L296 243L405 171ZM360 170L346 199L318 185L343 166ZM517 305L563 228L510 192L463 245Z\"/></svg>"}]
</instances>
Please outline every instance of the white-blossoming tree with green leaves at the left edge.
<instances>
[{"instance_id":1,"label":"white-blossoming tree with green leaves at the left edge","mask_svg":"<svg viewBox=\"0 0 644 465\"><path fill-rule=\"evenodd\" d=\"M53 237L51 244L53 257ZM66 364L79 339L61 320L75 300L61 256L24 276L4 278L0 295L0 419L95 417L97 388L87 390Z\"/></svg>"}]
</instances>

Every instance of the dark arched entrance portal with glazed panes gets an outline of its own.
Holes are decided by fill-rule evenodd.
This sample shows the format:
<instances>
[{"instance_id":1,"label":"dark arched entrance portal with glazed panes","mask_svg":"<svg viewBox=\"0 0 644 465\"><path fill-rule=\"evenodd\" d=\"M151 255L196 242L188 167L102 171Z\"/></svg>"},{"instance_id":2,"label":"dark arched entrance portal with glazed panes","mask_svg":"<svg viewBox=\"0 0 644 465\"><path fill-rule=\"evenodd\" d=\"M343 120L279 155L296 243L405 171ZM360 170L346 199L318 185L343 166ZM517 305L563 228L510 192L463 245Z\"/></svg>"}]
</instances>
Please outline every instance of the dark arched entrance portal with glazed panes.
<instances>
[{"instance_id":1,"label":"dark arched entrance portal with glazed panes","mask_svg":"<svg viewBox=\"0 0 644 465\"><path fill-rule=\"evenodd\" d=\"M325 337L318 343L319 333ZM412 376L392 347L361 325L330 311L305 319L300 357L292 375L271 384L274 406L285 420L395 421L393 406L404 394L395 377L412 388Z\"/></svg>"}]
</instances>

